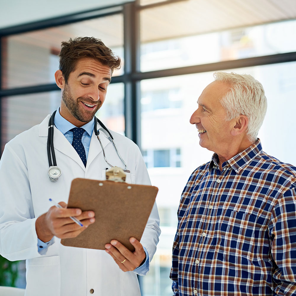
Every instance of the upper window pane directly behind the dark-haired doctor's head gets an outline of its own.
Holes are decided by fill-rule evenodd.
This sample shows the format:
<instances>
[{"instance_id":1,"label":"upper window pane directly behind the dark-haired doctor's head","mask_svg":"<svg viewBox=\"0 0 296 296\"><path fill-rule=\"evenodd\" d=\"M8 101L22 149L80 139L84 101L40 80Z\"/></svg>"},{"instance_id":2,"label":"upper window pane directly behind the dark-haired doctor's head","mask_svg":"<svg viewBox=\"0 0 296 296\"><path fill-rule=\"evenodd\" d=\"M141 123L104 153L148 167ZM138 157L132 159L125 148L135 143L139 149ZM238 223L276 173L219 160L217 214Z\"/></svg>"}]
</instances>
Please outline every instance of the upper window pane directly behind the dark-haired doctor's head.
<instances>
[{"instance_id":1,"label":"upper window pane directly behind the dark-haired doctor's head","mask_svg":"<svg viewBox=\"0 0 296 296\"><path fill-rule=\"evenodd\" d=\"M54 83L61 42L77 36L102 39L123 59L123 15L116 14L3 38L2 89ZM121 75L123 68L113 73Z\"/></svg>"}]
</instances>

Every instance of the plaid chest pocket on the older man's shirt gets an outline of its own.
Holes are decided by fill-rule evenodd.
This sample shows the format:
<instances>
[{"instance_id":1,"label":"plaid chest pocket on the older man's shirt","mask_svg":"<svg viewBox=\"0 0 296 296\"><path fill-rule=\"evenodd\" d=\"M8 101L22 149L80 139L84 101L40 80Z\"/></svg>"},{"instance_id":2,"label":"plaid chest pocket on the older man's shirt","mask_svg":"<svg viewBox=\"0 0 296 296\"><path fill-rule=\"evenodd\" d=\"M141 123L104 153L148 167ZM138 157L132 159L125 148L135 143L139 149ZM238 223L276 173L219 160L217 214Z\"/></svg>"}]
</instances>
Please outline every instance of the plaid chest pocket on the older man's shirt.
<instances>
[{"instance_id":1,"label":"plaid chest pocket on the older man's shirt","mask_svg":"<svg viewBox=\"0 0 296 296\"><path fill-rule=\"evenodd\" d=\"M249 260L268 260L267 218L225 210L219 220L217 247L224 253Z\"/></svg>"}]
</instances>

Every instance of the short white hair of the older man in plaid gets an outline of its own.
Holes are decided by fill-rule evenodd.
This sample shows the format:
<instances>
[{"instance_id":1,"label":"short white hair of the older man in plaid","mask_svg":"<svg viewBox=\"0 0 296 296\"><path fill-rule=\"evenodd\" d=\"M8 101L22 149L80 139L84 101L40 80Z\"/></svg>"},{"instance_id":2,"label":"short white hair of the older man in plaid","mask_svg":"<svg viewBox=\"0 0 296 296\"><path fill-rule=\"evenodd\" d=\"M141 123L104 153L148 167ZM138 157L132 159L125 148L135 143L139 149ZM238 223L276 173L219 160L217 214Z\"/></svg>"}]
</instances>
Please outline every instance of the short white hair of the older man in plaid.
<instances>
[{"instance_id":1,"label":"short white hair of the older man in plaid","mask_svg":"<svg viewBox=\"0 0 296 296\"><path fill-rule=\"evenodd\" d=\"M255 142L267 109L262 84L251 75L234 72L215 72L214 77L215 81L230 85L229 91L220 100L226 111L225 120L237 118L239 115L247 116L247 136L250 141Z\"/></svg>"}]
</instances>

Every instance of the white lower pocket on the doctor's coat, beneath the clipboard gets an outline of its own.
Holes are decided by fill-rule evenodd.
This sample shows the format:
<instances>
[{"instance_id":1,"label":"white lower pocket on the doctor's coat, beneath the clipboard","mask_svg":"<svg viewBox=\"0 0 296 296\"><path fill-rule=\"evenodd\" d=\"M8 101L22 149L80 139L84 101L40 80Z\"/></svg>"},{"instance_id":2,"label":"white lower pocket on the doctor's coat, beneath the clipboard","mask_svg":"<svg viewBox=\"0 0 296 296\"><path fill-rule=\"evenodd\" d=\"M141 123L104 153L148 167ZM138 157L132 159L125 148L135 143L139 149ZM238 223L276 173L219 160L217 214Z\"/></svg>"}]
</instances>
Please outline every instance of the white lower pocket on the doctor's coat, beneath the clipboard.
<instances>
[{"instance_id":1,"label":"white lower pocket on the doctor's coat, beneath the clipboard","mask_svg":"<svg viewBox=\"0 0 296 296\"><path fill-rule=\"evenodd\" d=\"M25 296L60 296L61 269L59 256L26 260L27 287Z\"/></svg>"}]
</instances>

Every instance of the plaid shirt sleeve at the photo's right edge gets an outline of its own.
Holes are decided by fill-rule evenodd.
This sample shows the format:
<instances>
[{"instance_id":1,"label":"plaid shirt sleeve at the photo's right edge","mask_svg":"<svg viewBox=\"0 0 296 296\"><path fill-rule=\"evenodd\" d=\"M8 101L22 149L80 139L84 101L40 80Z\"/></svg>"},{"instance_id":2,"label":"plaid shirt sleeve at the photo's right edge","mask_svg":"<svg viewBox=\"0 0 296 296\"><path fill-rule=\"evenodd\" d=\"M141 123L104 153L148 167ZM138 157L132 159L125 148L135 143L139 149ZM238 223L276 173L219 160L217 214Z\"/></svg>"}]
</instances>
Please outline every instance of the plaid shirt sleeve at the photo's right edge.
<instances>
[{"instance_id":1,"label":"plaid shirt sleeve at the photo's right edge","mask_svg":"<svg viewBox=\"0 0 296 296\"><path fill-rule=\"evenodd\" d=\"M269 223L273 280L276 295L296 295L296 191L282 195L271 213Z\"/></svg>"}]
</instances>

